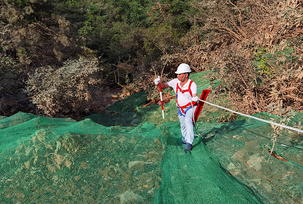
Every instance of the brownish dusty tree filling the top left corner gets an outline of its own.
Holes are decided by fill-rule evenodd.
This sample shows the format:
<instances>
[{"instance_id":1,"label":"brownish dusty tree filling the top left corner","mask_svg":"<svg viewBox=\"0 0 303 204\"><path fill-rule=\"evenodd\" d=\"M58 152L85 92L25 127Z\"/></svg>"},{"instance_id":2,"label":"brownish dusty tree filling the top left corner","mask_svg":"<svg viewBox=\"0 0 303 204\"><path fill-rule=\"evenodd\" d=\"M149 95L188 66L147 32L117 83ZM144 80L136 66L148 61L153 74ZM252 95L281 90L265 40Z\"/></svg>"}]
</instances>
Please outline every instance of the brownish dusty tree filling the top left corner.
<instances>
[{"instance_id":1,"label":"brownish dusty tree filling the top left corner","mask_svg":"<svg viewBox=\"0 0 303 204\"><path fill-rule=\"evenodd\" d=\"M56 4L43 1L2 1L0 32L5 32L1 46L16 53L27 68L62 65L80 53L81 38L73 33L72 24L56 13Z\"/></svg>"}]
</instances>

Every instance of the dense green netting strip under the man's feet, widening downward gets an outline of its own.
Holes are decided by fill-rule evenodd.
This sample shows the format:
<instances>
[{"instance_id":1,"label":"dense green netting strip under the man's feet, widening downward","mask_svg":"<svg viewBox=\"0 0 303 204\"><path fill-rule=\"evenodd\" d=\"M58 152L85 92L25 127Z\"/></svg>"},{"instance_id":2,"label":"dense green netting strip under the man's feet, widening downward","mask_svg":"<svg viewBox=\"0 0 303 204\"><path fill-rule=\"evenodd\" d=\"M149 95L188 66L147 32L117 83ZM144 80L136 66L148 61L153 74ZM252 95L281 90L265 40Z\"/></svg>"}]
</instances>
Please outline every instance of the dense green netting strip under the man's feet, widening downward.
<instances>
[{"instance_id":1,"label":"dense green netting strip under the man's feet, widening downward","mask_svg":"<svg viewBox=\"0 0 303 204\"><path fill-rule=\"evenodd\" d=\"M162 183L154 203L260 203L244 185L226 174L201 137L193 150L179 146L179 124L168 122L171 140L161 164Z\"/></svg>"}]
</instances>

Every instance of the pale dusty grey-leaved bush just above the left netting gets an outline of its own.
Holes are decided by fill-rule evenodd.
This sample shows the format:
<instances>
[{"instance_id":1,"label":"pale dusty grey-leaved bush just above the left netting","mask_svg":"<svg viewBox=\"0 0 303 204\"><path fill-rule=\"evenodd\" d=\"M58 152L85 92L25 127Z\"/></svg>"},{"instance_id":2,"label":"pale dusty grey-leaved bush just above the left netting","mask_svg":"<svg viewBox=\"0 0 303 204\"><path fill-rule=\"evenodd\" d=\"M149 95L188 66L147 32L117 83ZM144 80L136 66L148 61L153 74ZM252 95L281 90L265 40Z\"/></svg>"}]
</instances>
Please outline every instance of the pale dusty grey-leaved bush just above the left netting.
<instances>
[{"instance_id":1,"label":"pale dusty grey-leaved bush just above the left netting","mask_svg":"<svg viewBox=\"0 0 303 204\"><path fill-rule=\"evenodd\" d=\"M100 81L94 77L100 70L97 65L96 58L80 58L66 61L59 69L38 68L29 75L27 92L33 95L33 104L46 115L76 111L90 99L90 85Z\"/></svg>"}]
</instances>

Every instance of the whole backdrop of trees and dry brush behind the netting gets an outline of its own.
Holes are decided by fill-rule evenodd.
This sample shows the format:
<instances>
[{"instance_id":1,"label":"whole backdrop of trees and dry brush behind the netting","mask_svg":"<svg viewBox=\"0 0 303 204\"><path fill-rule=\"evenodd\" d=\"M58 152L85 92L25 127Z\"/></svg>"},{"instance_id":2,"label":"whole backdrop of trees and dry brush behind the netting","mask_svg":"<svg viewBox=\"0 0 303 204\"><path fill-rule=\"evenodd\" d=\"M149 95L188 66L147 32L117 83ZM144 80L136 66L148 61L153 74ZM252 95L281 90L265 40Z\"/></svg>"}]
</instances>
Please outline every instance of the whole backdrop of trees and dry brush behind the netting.
<instances>
[{"instance_id":1,"label":"whole backdrop of trees and dry brush behind the netting","mask_svg":"<svg viewBox=\"0 0 303 204\"><path fill-rule=\"evenodd\" d=\"M302 111L301 0L0 0L0 115L81 119L211 70L246 114ZM212 85L212 83L211 83ZM167 93L168 94L168 93Z\"/></svg>"}]
</instances>

